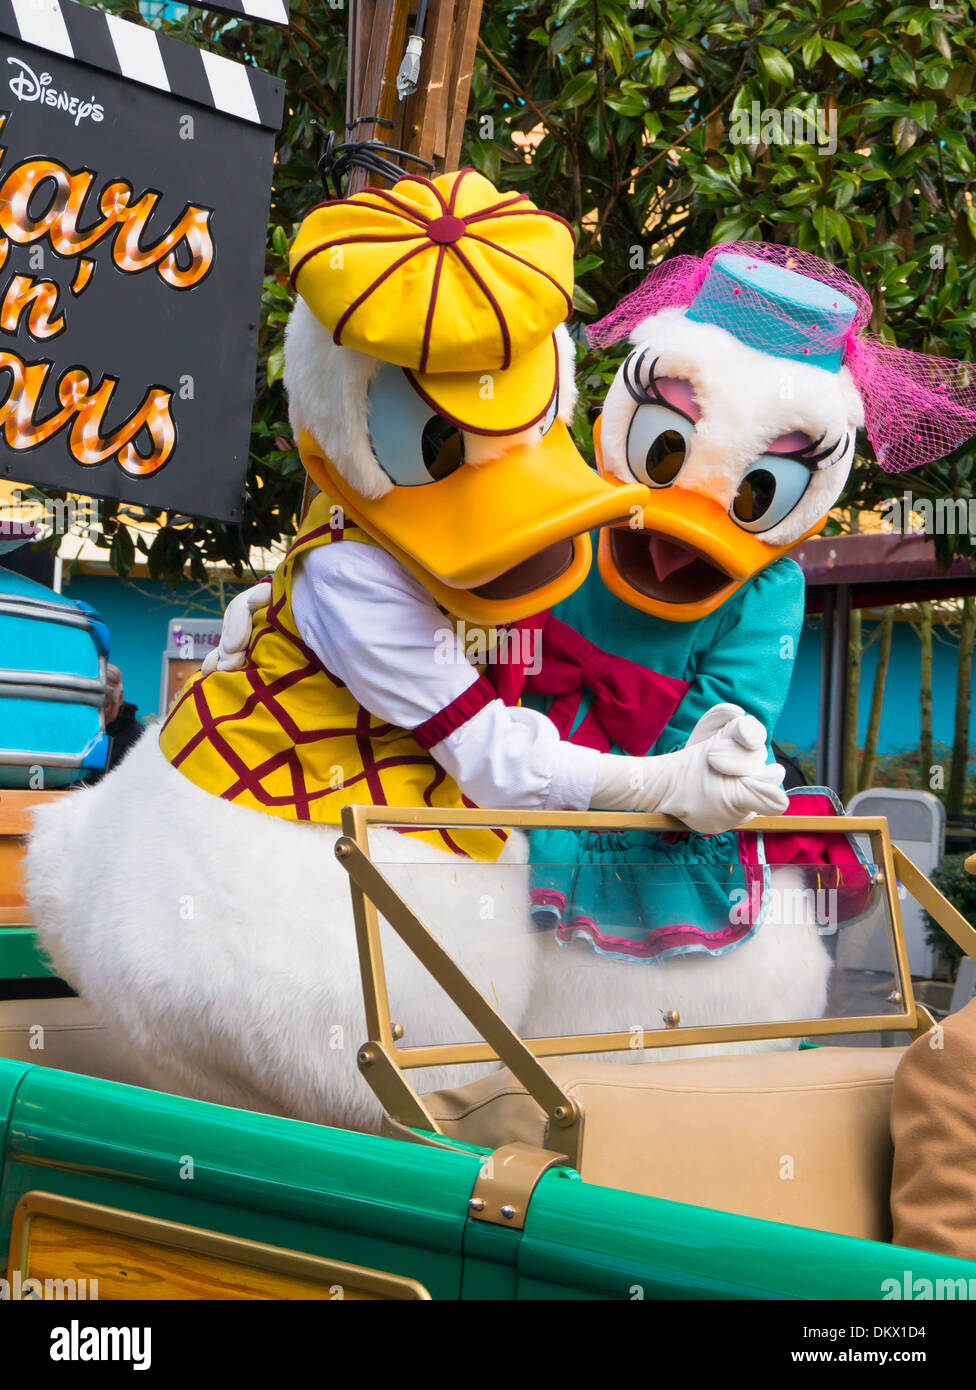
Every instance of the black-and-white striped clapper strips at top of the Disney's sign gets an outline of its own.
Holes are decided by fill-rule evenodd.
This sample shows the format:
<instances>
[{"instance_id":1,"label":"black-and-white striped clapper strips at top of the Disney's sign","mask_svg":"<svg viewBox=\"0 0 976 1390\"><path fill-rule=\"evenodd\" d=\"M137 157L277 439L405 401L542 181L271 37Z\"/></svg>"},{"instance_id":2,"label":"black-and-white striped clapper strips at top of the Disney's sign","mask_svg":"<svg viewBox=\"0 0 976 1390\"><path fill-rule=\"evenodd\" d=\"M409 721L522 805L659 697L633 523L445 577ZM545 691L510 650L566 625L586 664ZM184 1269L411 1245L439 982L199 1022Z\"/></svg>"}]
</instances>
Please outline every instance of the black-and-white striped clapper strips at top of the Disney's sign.
<instances>
[{"instance_id":1,"label":"black-and-white striped clapper strips at top of the Disney's sign","mask_svg":"<svg viewBox=\"0 0 976 1390\"><path fill-rule=\"evenodd\" d=\"M234 13L243 14L245 4L253 18L270 18L259 10L282 8L282 0L242 0ZM239 121L270 129L281 125L284 83L278 78L75 0L0 0L0 33Z\"/></svg>"}]
</instances>

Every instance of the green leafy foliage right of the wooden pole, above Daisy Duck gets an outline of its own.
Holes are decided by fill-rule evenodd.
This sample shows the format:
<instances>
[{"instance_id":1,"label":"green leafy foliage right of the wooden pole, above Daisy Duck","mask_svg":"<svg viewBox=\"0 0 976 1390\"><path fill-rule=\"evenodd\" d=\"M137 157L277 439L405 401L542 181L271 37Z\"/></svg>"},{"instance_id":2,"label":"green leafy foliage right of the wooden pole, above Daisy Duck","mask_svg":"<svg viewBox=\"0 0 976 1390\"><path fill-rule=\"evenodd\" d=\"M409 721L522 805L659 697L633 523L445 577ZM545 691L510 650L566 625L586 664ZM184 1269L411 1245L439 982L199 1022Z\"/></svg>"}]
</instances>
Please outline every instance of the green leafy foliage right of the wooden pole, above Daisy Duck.
<instances>
[{"instance_id":1,"label":"green leafy foliage right of the wooden pole, above Daisy Duck","mask_svg":"<svg viewBox=\"0 0 976 1390\"><path fill-rule=\"evenodd\" d=\"M872 293L876 332L918 352L969 356L976 44L965 7L487 8L491 54L480 51L474 115L492 117L496 139L474 146L473 160L578 228L580 288L594 311L609 310L670 252L767 239L844 264ZM805 113L820 122L819 145L733 140L754 110ZM516 132L539 131L527 164ZM598 403L605 375L584 375L587 404ZM975 471L966 449L912 474L911 486L919 496L970 496ZM859 460L848 505L870 509L895 489ZM937 538L944 559L954 539Z\"/></svg>"}]
</instances>

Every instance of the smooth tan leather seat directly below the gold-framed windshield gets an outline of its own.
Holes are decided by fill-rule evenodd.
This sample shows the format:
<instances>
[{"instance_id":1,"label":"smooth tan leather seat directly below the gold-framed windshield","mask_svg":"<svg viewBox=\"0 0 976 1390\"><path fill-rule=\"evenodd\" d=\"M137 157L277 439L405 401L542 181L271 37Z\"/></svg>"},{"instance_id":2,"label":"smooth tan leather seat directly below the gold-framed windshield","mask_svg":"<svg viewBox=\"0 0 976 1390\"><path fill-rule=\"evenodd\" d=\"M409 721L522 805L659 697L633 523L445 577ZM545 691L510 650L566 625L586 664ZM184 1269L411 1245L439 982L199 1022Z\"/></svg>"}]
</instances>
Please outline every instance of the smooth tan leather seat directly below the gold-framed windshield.
<instances>
[{"instance_id":1,"label":"smooth tan leather seat directly below the gold-framed windshield","mask_svg":"<svg viewBox=\"0 0 976 1390\"><path fill-rule=\"evenodd\" d=\"M888 1240L888 1113L904 1048L824 1047L683 1061L546 1058L583 1109L587 1182ZM506 1070L424 1104L445 1134L559 1148Z\"/></svg>"}]
</instances>

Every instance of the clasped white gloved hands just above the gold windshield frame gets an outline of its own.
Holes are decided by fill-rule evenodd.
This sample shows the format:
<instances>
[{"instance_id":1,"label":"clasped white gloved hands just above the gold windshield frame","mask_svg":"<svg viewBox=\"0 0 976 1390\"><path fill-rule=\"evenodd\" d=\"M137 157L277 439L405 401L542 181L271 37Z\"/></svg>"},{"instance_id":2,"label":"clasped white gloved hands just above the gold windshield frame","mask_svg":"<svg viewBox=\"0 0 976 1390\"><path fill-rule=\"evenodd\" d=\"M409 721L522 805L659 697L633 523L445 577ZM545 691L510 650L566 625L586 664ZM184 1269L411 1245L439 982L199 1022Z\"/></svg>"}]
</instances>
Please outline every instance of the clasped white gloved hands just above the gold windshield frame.
<instances>
[{"instance_id":1,"label":"clasped white gloved hands just above the gold windshield frame","mask_svg":"<svg viewBox=\"0 0 976 1390\"><path fill-rule=\"evenodd\" d=\"M787 808L779 763L766 762L766 730L738 705L715 705L684 748L659 758L601 753L591 806L676 816L717 835Z\"/></svg>"}]
</instances>

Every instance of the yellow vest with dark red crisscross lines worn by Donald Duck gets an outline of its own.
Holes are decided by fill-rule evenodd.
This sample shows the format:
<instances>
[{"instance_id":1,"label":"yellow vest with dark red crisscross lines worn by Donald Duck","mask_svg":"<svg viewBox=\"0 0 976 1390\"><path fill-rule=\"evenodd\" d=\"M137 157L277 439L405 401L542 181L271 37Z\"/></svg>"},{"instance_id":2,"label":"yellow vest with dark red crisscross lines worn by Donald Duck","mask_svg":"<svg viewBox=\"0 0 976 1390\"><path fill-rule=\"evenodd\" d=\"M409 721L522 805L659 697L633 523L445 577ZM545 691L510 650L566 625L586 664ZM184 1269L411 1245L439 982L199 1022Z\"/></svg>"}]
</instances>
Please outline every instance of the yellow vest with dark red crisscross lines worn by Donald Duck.
<instances>
[{"instance_id":1,"label":"yellow vest with dark red crisscross lines worn by Donald Duck","mask_svg":"<svg viewBox=\"0 0 976 1390\"><path fill-rule=\"evenodd\" d=\"M285 820L339 823L349 805L471 806L413 735L375 719L302 641L292 613L295 564L317 545L375 545L318 493L274 574L271 602L256 614L247 663L197 674L160 735L165 758L204 791ZM499 830L416 830L442 849L494 860Z\"/></svg>"}]
</instances>

